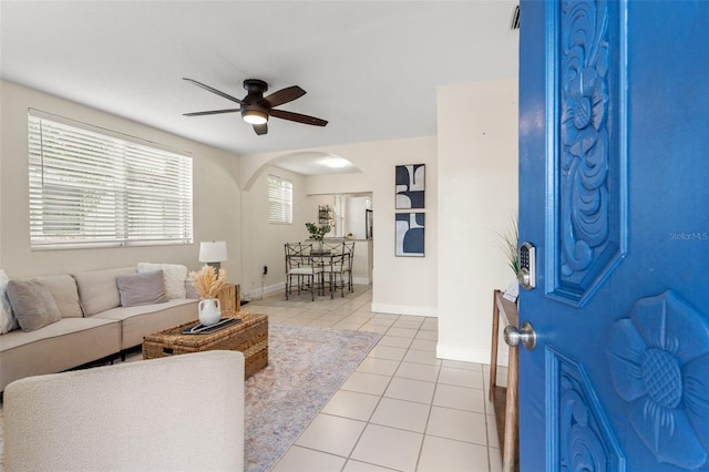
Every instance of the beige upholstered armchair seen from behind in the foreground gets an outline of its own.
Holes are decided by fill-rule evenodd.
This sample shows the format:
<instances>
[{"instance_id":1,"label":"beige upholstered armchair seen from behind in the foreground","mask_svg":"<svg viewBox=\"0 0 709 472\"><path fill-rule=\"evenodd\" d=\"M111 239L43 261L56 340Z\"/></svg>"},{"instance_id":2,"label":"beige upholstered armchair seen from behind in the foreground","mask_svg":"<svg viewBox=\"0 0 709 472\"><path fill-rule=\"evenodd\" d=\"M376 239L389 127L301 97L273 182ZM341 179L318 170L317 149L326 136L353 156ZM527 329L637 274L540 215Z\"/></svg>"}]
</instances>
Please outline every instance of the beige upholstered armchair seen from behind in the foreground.
<instances>
[{"instance_id":1,"label":"beige upholstered armchair seen from behind in the foreground","mask_svg":"<svg viewBox=\"0 0 709 472\"><path fill-rule=\"evenodd\" d=\"M244 356L29 377L4 391L4 470L244 469Z\"/></svg>"}]
</instances>

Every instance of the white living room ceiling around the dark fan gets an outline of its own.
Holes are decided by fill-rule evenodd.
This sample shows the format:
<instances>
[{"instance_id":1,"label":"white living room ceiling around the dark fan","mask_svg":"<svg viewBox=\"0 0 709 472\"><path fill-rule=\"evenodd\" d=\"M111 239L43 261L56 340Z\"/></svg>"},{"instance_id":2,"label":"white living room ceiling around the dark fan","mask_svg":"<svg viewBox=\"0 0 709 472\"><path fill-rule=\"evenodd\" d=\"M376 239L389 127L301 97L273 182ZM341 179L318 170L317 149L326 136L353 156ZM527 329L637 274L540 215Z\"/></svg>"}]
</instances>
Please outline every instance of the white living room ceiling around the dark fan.
<instances>
[{"instance_id":1,"label":"white living room ceiling around the dark fan","mask_svg":"<svg viewBox=\"0 0 709 472\"><path fill-rule=\"evenodd\" d=\"M237 154L431 135L436 88L516 75L515 4L2 0L0 76ZM297 84L279 109L329 124L186 117L238 105L183 76L237 98Z\"/></svg>"}]
</instances>

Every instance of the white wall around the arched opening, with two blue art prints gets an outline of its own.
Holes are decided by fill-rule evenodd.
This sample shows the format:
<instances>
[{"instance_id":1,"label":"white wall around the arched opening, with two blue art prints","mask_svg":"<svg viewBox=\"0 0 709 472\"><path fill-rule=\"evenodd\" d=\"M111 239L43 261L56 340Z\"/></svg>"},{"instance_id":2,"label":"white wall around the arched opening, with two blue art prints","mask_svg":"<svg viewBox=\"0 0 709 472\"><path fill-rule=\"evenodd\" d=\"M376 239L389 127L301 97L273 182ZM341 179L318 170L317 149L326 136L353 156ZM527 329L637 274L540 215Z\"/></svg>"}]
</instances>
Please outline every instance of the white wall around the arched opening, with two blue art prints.
<instances>
[{"instance_id":1,"label":"white wall around the arched opening, with two blue art prints","mask_svg":"<svg viewBox=\"0 0 709 472\"><path fill-rule=\"evenodd\" d=\"M439 178L436 173L435 136L346 144L307 151L335 154L350 161L362 171L364 181L369 183L367 191L372 192L372 205L374 208L372 310L403 315L436 316L436 260L439 247L436 207ZM299 151L243 156L240 175L242 188L245 189L245 193L250 193L250 186L261 178L261 174L269 163L278 161L285 154L291 152ZM394 256L394 166L398 164L427 164L427 207L423 211L427 213L425 257ZM359 178L357 182L357 185L361 185ZM361 187L358 189L343 185L337 192L328 193L354 193L361 191ZM245 230L249 229L245 228ZM256 237L250 236L249 239L254 240L255 245L258 245ZM282 247L282 243L281 240L280 247ZM248 277L253 277L253 275L245 275L244 279Z\"/></svg>"}]
</instances>

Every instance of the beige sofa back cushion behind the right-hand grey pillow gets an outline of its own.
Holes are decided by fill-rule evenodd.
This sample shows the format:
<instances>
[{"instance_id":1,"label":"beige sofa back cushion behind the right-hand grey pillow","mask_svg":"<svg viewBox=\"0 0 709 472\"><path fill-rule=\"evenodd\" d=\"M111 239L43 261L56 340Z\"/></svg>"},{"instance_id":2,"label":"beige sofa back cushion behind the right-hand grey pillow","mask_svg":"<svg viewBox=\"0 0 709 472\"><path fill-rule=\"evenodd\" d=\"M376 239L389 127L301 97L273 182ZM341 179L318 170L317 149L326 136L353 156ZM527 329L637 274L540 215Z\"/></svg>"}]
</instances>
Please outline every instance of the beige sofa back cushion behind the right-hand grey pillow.
<instances>
[{"instance_id":1,"label":"beige sofa back cushion behind the right-hand grey pillow","mask_svg":"<svg viewBox=\"0 0 709 472\"><path fill-rule=\"evenodd\" d=\"M72 274L79 287L79 299L84 316L121 306L121 296L115 278L120 275L135 274L135 267L117 269L88 270Z\"/></svg>"}]
</instances>

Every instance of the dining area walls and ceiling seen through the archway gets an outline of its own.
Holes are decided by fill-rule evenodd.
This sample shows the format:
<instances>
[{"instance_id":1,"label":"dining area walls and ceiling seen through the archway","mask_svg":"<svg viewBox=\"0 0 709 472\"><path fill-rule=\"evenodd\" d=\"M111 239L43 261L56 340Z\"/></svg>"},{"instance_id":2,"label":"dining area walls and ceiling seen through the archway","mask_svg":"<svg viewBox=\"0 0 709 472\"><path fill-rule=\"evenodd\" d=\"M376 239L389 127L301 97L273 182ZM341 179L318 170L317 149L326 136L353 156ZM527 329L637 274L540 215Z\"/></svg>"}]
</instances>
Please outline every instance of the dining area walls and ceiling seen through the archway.
<instances>
[{"instance_id":1,"label":"dining area walls and ceiling seen through the archway","mask_svg":"<svg viewBox=\"0 0 709 472\"><path fill-rule=\"evenodd\" d=\"M333 165L343 166L335 167ZM354 277L356 284L372 284L373 240L371 232L366 230L367 220L371 222L371 217L369 219L366 217L366 209L372 209L373 187L351 160L326 151L269 153L244 156L240 170L243 183L240 233L244 258L242 280L245 294L249 291L264 294L280 289L281 266L285 270L282 245L286 242L307 238L305 223L318 222L320 205L337 208L337 215L341 216L332 225L333 232L328 237L343 239L352 233L357 246L354 252L357 273L360 274L359 277ZM263 215L267 212L269 175L285 176L292 181L294 220L291 225L265 223ZM304 212L307 213L305 217ZM361 217L349 219L342 216L347 212L361 213L359 215ZM361 230L350 229L348 227L350 224L358 225L357 228ZM264 266L270 268L266 276L261 274Z\"/></svg>"}]
</instances>

